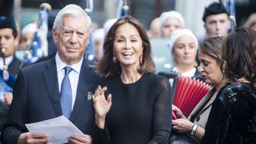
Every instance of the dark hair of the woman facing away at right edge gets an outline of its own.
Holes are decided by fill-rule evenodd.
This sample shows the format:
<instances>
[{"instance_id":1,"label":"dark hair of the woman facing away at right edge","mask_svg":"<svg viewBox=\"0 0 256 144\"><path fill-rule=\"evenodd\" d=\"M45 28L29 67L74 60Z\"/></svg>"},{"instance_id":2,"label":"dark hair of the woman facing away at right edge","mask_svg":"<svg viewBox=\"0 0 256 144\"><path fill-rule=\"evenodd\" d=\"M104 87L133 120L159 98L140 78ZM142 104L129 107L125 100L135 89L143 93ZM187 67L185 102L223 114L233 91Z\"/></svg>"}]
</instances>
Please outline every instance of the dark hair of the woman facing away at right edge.
<instances>
[{"instance_id":1,"label":"dark hair of the woman facing away at right edge","mask_svg":"<svg viewBox=\"0 0 256 144\"><path fill-rule=\"evenodd\" d=\"M222 45L221 69L230 82L245 77L255 86L256 81L256 31L237 28Z\"/></svg>"}]
</instances>

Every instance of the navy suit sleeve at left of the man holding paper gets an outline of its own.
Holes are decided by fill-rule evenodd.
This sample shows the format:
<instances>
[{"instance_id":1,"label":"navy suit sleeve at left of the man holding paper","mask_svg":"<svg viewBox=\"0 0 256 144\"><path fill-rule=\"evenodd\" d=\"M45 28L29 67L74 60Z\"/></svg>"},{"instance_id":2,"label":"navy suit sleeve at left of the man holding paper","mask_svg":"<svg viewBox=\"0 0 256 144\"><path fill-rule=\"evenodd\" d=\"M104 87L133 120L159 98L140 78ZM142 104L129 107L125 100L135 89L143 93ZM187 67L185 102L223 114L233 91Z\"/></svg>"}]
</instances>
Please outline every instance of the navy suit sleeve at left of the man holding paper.
<instances>
[{"instance_id":1,"label":"navy suit sleeve at left of the man holding paper","mask_svg":"<svg viewBox=\"0 0 256 144\"><path fill-rule=\"evenodd\" d=\"M18 143L19 135L27 130L27 83L23 70L20 71L14 85L13 100L7 121L1 134L2 143Z\"/></svg>"}]
</instances>

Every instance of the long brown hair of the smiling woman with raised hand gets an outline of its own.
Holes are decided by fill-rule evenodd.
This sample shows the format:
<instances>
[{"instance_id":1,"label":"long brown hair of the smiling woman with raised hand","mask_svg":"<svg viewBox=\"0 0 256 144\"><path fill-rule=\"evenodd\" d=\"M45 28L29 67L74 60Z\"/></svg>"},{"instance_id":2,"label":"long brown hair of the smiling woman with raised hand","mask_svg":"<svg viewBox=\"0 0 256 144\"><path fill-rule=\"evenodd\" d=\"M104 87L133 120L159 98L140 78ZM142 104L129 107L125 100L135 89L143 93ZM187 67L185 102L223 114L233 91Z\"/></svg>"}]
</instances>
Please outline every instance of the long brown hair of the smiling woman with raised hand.
<instances>
[{"instance_id":1,"label":"long brown hair of the smiling woman with raised hand","mask_svg":"<svg viewBox=\"0 0 256 144\"><path fill-rule=\"evenodd\" d=\"M151 45L148 39L148 35L143 26L141 25L141 23L131 16L126 16L118 19L114 23L114 25L109 29L103 44L102 59L97 64L97 73L102 77L115 77L119 73L121 73L121 66L119 64L119 61L117 63L113 63L112 59L116 29L124 23L130 23L131 25L133 25L138 30L140 37L142 39L143 65L139 67L138 73L155 73L156 68L151 57Z\"/></svg>"}]
</instances>

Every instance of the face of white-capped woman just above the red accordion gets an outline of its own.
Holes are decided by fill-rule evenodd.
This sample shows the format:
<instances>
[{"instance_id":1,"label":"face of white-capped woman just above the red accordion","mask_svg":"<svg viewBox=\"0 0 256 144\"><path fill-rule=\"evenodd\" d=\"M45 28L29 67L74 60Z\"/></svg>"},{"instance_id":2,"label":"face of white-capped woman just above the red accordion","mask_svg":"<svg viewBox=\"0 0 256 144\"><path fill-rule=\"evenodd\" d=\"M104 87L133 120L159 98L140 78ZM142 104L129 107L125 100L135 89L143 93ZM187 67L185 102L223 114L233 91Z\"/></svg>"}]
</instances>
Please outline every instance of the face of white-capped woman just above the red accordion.
<instances>
[{"instance_id":1,"label":"face of white-capped woman just above the red accordion","mask_svg":"<svg viewBox=\"0 0 256 144\"><path fill-rule=\"evenodd\" d=\"M196 60L196 44L190 36L180 36L174 44L172 57L177 66L192 66Z\"/></svg>"}]
</instances>

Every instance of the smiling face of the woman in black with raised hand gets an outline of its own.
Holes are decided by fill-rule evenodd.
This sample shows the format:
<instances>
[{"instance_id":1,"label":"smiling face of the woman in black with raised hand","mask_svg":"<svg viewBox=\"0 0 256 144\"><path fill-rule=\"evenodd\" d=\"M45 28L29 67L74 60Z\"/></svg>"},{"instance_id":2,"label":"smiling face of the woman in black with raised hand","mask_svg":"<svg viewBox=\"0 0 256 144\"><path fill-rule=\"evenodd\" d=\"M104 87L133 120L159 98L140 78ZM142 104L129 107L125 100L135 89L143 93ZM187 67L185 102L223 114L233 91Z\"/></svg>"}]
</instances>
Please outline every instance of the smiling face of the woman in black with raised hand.
<instances>
[{"instance_id":1,"label":"smiling face of the woman in black with raised hand","mask_svg":"<svg viewBox=\"0 0 256 144\"><path fill-rule=\"evenodd\" d=\"M142 39L133 25L124 23L116 29L114 50L121 68L133 67L137 69L140 55L143 52Z\"/></svg>"}]
</instances>

